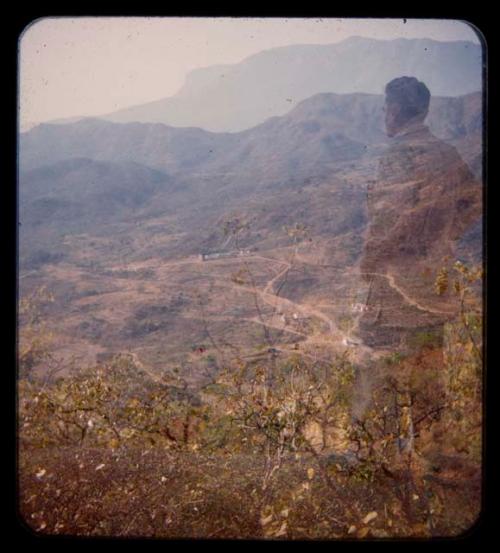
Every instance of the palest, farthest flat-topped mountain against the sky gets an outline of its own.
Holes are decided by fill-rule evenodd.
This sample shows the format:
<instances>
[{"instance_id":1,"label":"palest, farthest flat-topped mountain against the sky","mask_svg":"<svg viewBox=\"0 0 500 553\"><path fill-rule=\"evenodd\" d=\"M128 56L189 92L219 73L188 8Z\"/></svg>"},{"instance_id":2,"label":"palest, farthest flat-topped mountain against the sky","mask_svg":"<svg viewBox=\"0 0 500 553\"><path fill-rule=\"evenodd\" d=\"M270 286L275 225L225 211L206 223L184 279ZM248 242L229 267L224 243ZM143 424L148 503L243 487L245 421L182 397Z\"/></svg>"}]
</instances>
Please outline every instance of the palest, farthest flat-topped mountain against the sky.
<instances>
[{"instance_id":1,"label":"palest, farthest flat-topped mountain against the sky","mask_svg":"<svg viewBox=\"0 0 500 553\"><path fill-rule=\"evenodd\" d=\"M237 64L197 69L174 96L101 118L236 132L321 92L382 94L385 84L401 75L422 80L433 96L462 96L481 89L481 71L481 46L472 42L350 37L336 44L274 48Z\"/></svg>"}]
</instances>

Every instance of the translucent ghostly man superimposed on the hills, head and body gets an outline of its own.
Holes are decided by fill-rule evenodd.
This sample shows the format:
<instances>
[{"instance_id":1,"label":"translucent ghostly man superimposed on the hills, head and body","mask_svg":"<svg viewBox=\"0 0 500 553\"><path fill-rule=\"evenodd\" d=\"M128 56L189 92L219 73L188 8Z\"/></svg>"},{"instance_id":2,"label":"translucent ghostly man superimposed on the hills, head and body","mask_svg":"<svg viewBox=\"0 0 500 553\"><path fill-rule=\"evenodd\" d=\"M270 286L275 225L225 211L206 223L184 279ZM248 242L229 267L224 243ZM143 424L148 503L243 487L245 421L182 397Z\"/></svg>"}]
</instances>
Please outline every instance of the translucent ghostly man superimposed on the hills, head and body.
<instances>
[{"instance_id":1,"label":"translucent ghostly man superimposed on the hills, head and body","mask_svg":"<svg viewBox=\"0 0 500 553\"><path fill-rule=\"evenodd\" d=\"M360 265L368 284L358 331L367 345L394 346L449 318L433 308L420 275L452 258L456 241L481 216L481 185L457 150L424 124L430 92L414 77L385 88L389 145L367 189L368 232Z\"/></svg>"}]
</instances>

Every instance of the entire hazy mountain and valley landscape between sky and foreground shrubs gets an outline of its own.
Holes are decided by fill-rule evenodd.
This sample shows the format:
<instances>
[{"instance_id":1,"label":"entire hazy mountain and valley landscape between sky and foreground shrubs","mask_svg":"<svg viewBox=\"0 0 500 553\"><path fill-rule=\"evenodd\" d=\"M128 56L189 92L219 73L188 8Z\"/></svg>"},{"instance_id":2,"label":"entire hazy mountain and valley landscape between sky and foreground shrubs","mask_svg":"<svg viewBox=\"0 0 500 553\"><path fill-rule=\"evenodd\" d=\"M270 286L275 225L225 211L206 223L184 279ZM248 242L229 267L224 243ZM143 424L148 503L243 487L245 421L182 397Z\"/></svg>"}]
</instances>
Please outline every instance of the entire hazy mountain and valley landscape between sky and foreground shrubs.
<instances>
[{"instance_id":1,"label":"entire hazy mountain and valley landscape between sky and foreground shrubs","mask_svg":"<svg viewBox=\"0 0 500 553\"><path fill-rule=\"evenodd\" d=\"M189 344L207 339L200 294L210 298L213 334L247 347L259 341L262 322L248 290L231 284L237 260L208 265L196 256L234 249L223 222L235 215L249 221L240 247L255 254L266 303L288 263L283 227L301 223L314 247L280 288L282 309L287 317L302 313L303 325L331 331L366 288L353 271L364 248L367 186L378 178L389 142L385 84L403 74L426 82L433 93L426 123L479 178L478 56L472 43L428 40L353 37L286 47L195 72L176 97L113 120L42 124L21 134L23 287L51 286L62 343L92 355L132 344L153 367L172 356L185 361ZM456 159L450 167L431 159L434 166L423 169L440 182L448 169L452 178L464 170ZM415 209L424 213L425 202ZM480 247L477 234L464 255ZM275 321L269 328L276 330ZM283 343L307 335L300 326L283 332Z\"/></svg>"}]
</instances>

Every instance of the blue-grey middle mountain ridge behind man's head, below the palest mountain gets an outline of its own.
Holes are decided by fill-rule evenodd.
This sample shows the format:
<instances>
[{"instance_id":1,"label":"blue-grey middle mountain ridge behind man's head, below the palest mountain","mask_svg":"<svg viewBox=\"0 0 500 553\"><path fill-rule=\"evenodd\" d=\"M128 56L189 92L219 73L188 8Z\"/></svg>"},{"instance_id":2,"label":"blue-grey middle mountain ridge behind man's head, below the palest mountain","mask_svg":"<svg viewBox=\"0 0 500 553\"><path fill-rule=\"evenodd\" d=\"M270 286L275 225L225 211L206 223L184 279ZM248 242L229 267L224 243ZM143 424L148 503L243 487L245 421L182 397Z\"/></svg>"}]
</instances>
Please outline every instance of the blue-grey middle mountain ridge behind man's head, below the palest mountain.
<instances>
[{"instance_id":1,"label":"blue-grey middle mountain ridge behind man's head, below the palest mountain","mask_svg":"<svg viewBox=\"0 0 500 553\"><path fill-rule=\"evenodd\" d=\"M71 158L135 162L181 178L217 177L233 184L286 182L328 174L340 160L359 158L387 140L383 96L318 94L288 114L240 133L213 133L160 123L83 119L38 125L20 137L23 172ZM432 98L427 118L439 138L456 146L474 171L481 168L482 98ZM249 179L249 180L248 180Z\"/></svg>"}]
</instances>

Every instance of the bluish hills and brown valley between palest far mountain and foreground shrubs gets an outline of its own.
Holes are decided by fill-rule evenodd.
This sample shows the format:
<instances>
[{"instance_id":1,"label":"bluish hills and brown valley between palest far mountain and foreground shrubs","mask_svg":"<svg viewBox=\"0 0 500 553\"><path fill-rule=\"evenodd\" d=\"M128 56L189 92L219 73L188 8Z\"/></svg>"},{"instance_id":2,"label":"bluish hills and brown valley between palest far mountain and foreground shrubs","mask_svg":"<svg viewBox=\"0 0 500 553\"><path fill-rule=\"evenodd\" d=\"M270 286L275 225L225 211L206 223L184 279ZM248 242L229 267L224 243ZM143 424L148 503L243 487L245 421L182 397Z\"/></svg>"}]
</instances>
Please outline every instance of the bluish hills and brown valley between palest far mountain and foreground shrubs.
<instances>
[{"instance_id":1,"label":"bluish hills and brown valley between palest far mountain and foreground shrubs","mask_svg":"<svg viewBox=\"0 0 500 553\"><path fill-rule=\"evenodd\" d=\"M207 342L207 321L216 340L242 352L269 341L284 349L304 342L312 351L333 339L334 349L343 347L357 320L351 305L368 293L359 263L367 185L382 178L388 159L382 107L376 95L319 94L235 134L101 120L40 125L21 135L22 291L41 283L55 291L59 347L89 361L133 344L154 370L172 358L196 379L201 369L190 351ZM476 169L480 109L478 94L433 98L428 117ZM460 158L431 156L423 167L449 178L457 169L447 159ZM393 176L404 179L401 170ZM235 218L248 227L224 234ZM308 238L294 254L284 227L297 224ZM477 237L461 245L463 255L480 248ZM198 259L238 248L251 257ZM427 305L432 286L415 287L402 267L391 302L403 301L403 316L420 324L428 314L411 302ZM233 281L241 270L251 271L246 285Z\"/></svg>"}]
</instances>

